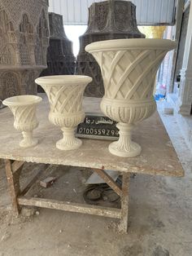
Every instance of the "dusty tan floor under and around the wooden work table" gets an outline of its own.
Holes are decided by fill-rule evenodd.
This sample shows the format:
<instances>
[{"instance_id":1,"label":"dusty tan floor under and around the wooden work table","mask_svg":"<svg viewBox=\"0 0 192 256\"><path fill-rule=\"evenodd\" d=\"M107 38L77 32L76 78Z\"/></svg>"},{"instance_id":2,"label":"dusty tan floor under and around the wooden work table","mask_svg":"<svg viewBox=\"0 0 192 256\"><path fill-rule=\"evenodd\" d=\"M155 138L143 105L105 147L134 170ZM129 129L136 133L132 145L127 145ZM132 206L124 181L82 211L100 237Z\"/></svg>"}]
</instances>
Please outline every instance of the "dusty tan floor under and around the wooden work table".
<instances>
[{"instance_id":1,"label":"dusty tan floor under and around the wooden work table","mask_svg":"<svg viewBox=\"0 0 192 256\"><path fill-rule=\"evenodd\" d=\"M162 117L185 168L185 178L137 175L131 179L128 235L120 235L110 218L58 210L38 209L30 217L24 211L20 218L12 218L1 164L0 256L191 256L192 153L186 148L174 117ZM44 165L26 164L22 183L44 168ZM30 193L82 201L79 195L84 191L83 183L89 171L55 166L48 174L56 174L60 179L47 189L37 183ZM71 179L73 186L68 183Z\"/></svg>"}]
</instances>

